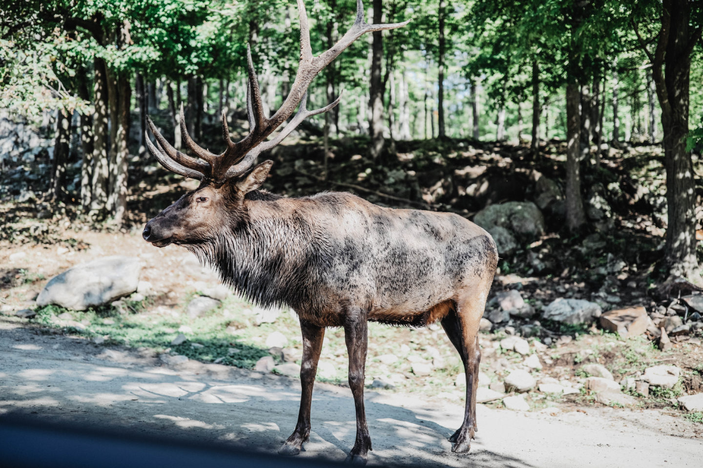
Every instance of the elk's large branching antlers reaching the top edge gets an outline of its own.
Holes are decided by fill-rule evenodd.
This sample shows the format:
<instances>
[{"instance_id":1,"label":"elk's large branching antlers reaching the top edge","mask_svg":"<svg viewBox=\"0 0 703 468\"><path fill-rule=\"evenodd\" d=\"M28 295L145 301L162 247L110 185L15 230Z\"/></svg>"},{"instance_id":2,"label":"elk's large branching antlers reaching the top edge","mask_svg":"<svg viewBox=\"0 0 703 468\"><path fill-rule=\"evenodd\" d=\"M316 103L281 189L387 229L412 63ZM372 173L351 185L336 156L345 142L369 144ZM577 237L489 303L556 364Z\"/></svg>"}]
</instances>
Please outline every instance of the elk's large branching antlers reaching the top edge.
<instances>
[{"instance_id":1,"label":"elk's large branching antlers reaching the top edge","mask_svg":"<svg viewBox=\"0 0 703 468\"><path fill-rule=\"evenodd\" d=\"M389 24L369 25L363 20L363 5L361 4L361 0L356 0L356 20L354 21L354 25L349 28L347 34L342 36L342 39L337 41L337 44L317 57L314 57L310 46L310 28L305 5L303 0L297 0L297 4L300 18L300 59L295 81L293 81L290 87L290 93L288 93L288 97L283 101L283 105L281 105L270 118L264 115L259 81L257 80L254 63L252 62L251 50L249 46L247 46L247 71L249 74L247 83L247 119L249 120L250 133L242 140L233 142L229 136L229 128L227 126L226 116L223 112L222 136L226 142L227 148L221 154L211 153L207 151L207 149L198 146L193 139L191 139L191 136L188 135L186 119L183 116L183 105L181 105L181 134L183 135L183 142L188 149L191 149L200 159L207 162L198 161L198 159L177 151L168 144L160 133L158 133L151 119L149 119L149 128L154 134L159 148L155 148L147 138L148 147L162 166L169 171L185 175L186 177L199 180L205 178L217 183L223 183L228 179L242 175L252 166L261 152L278 145L278 143L287 137L304 119L311 115L327 112L329 109L339 104L341 95L340 98L337 98L334 102L330 102L329 105L321 109L307 110L306 107L307 88L310 86L315 76L330 62L335 60L337 55L340 55L352 42L359 39L361 35L367 32L396 29L407 25L409 22L408 20ZM293 119L291 119L278 135L266 141L266 138L276 131L276 128L288 120L296 107L298 107L298 112ZM163 151L164 148L166 151Z\"/></svg>"}]
</instances>

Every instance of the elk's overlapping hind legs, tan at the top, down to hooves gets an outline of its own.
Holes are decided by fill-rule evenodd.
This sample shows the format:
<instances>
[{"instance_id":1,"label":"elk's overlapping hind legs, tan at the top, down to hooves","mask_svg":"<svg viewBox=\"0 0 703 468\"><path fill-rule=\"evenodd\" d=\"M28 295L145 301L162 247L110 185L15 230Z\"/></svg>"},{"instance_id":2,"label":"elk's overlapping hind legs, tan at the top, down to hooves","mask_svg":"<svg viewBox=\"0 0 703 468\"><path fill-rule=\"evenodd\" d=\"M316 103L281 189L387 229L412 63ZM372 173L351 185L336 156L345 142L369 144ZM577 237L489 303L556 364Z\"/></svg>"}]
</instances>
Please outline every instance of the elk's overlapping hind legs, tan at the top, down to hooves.
<instances>
[{"instance_id":1,"label":"elk's overlapping hind legs, tan at the top, down to hooves","mask_svg":"<svg viewBox=\"0 0 703 468\"><path fill-rule=\"evenodd\" d=\"M449 438L456 453L467 452L478 430L476 424L476 390L481 352L478 343L479 321L483 315L485 295L464 295L456 299L456 307L441 321L449 340L461 357L466 375L466 406L461 427Z\"/></svg>"}]
</instances>

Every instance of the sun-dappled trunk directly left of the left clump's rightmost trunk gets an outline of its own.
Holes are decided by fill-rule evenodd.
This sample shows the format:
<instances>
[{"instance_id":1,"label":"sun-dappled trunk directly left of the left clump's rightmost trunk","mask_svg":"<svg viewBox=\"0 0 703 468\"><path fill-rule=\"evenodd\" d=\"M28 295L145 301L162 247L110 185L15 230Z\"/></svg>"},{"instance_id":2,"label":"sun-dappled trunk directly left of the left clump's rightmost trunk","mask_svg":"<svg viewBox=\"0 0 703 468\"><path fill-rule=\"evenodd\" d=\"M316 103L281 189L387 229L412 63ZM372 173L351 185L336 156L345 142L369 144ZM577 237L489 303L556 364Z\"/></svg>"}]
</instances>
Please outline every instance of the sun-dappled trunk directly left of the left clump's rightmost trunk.
<instances>
[{"instance_id":1,"label":"sun-dappled trunk directly left of the left clump's rightmost trunk","mask_svg":"<svg viewBox=\"0 0 703 468\"><path fill-rule=\"evenodd\" d=\"M91 194L91 216L103 219L108 206L108 182L110 180L110 155L108 152L108 76L105 61L93 60L93 181Z\"/></svg>"}]
</instances>

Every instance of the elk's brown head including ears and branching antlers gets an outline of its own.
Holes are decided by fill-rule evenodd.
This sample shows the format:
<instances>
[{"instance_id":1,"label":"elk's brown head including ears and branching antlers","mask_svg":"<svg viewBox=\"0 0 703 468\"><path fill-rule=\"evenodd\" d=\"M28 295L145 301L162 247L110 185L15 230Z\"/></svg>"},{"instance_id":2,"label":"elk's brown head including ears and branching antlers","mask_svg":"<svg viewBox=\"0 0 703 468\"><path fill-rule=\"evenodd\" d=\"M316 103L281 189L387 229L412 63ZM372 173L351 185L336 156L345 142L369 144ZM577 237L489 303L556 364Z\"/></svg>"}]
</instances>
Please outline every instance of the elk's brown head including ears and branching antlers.
<instances>
[{"instance_id":1,"label":"elk's brown head including ears and branching antlers","mask_svg":"<svg viewBox=\"0 0 703 468\"><path fill-rule=\"evenodd\" d=\"M276 113L269 118L264 115L259 81L252 63L251 50L247 46L249 74L247 118L250 133L245 138L239 142L231 140L226 116L223 112L222 136L226 143L226 149L221 154L214 154L203 149L195 144L188 135L183 117L183 105L181 105L183 142L191 152L198 156L198 159L175 149L157 131L151 119L148 119L148 126L156 139L155 146L149 140L148 135L145 135L151 154L169 171L200 180L200 186L193 192L181 196L181 199L150 220L142 233L144 240L157 247L164 247L169 243L201 243L212 236L217 236L221 227L231 225L237 219L244 219L246 217L244 203L246 194L262 185L273 164L273 161L264 161L250 171L257 156L278 145L307 117L326 112L340 102L341 96L321 109L308 110L305 105L307 88L314 77L362 34L382 29L395 29L408 23L406 21L368 25L363 20L361 0L357 0L354 25L342 36L342 39L337 41L337 44L315 57L312 55L310 46L310 30L303 0L297 0L297 4L300 18L298 71L295 81L290 87L288 97L285 98L283 105ZM278 135L271 140L266 140L271 133L288 120L296 107L298 107L298 111L290 122L283 127Z\"/></svg>"}]
</instances>

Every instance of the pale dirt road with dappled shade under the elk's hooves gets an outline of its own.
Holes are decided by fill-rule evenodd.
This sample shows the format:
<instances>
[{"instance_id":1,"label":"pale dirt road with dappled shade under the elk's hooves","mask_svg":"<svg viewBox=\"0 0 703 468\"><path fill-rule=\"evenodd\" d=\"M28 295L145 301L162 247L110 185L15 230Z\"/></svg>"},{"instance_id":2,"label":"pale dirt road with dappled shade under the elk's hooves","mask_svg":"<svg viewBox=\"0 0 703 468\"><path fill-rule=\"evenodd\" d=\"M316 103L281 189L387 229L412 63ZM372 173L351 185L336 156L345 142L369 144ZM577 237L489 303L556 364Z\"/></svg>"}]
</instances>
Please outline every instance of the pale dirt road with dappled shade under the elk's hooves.
<instances>
[{"instance_id":1,"label":"pale dirt road with dappled shade under the elk's hooves","mask_svg":"<svg viewBox=\"0 0 703 468\"><path fill-rule=\"evenodd\" d=\"M301 457L343 460L354 443L349 389L316 384L313 432ZM165 366L146 352L101 347L0 319L0 415L100 424L274 453L292 432L299 383L195 361ZM460 403L460 402L459 402ZM446 441L463 406L366 392L370 466L699 467L700 424L652 410L515 413L479 405L469 455Z\"/></svg>"}]
</instances>

